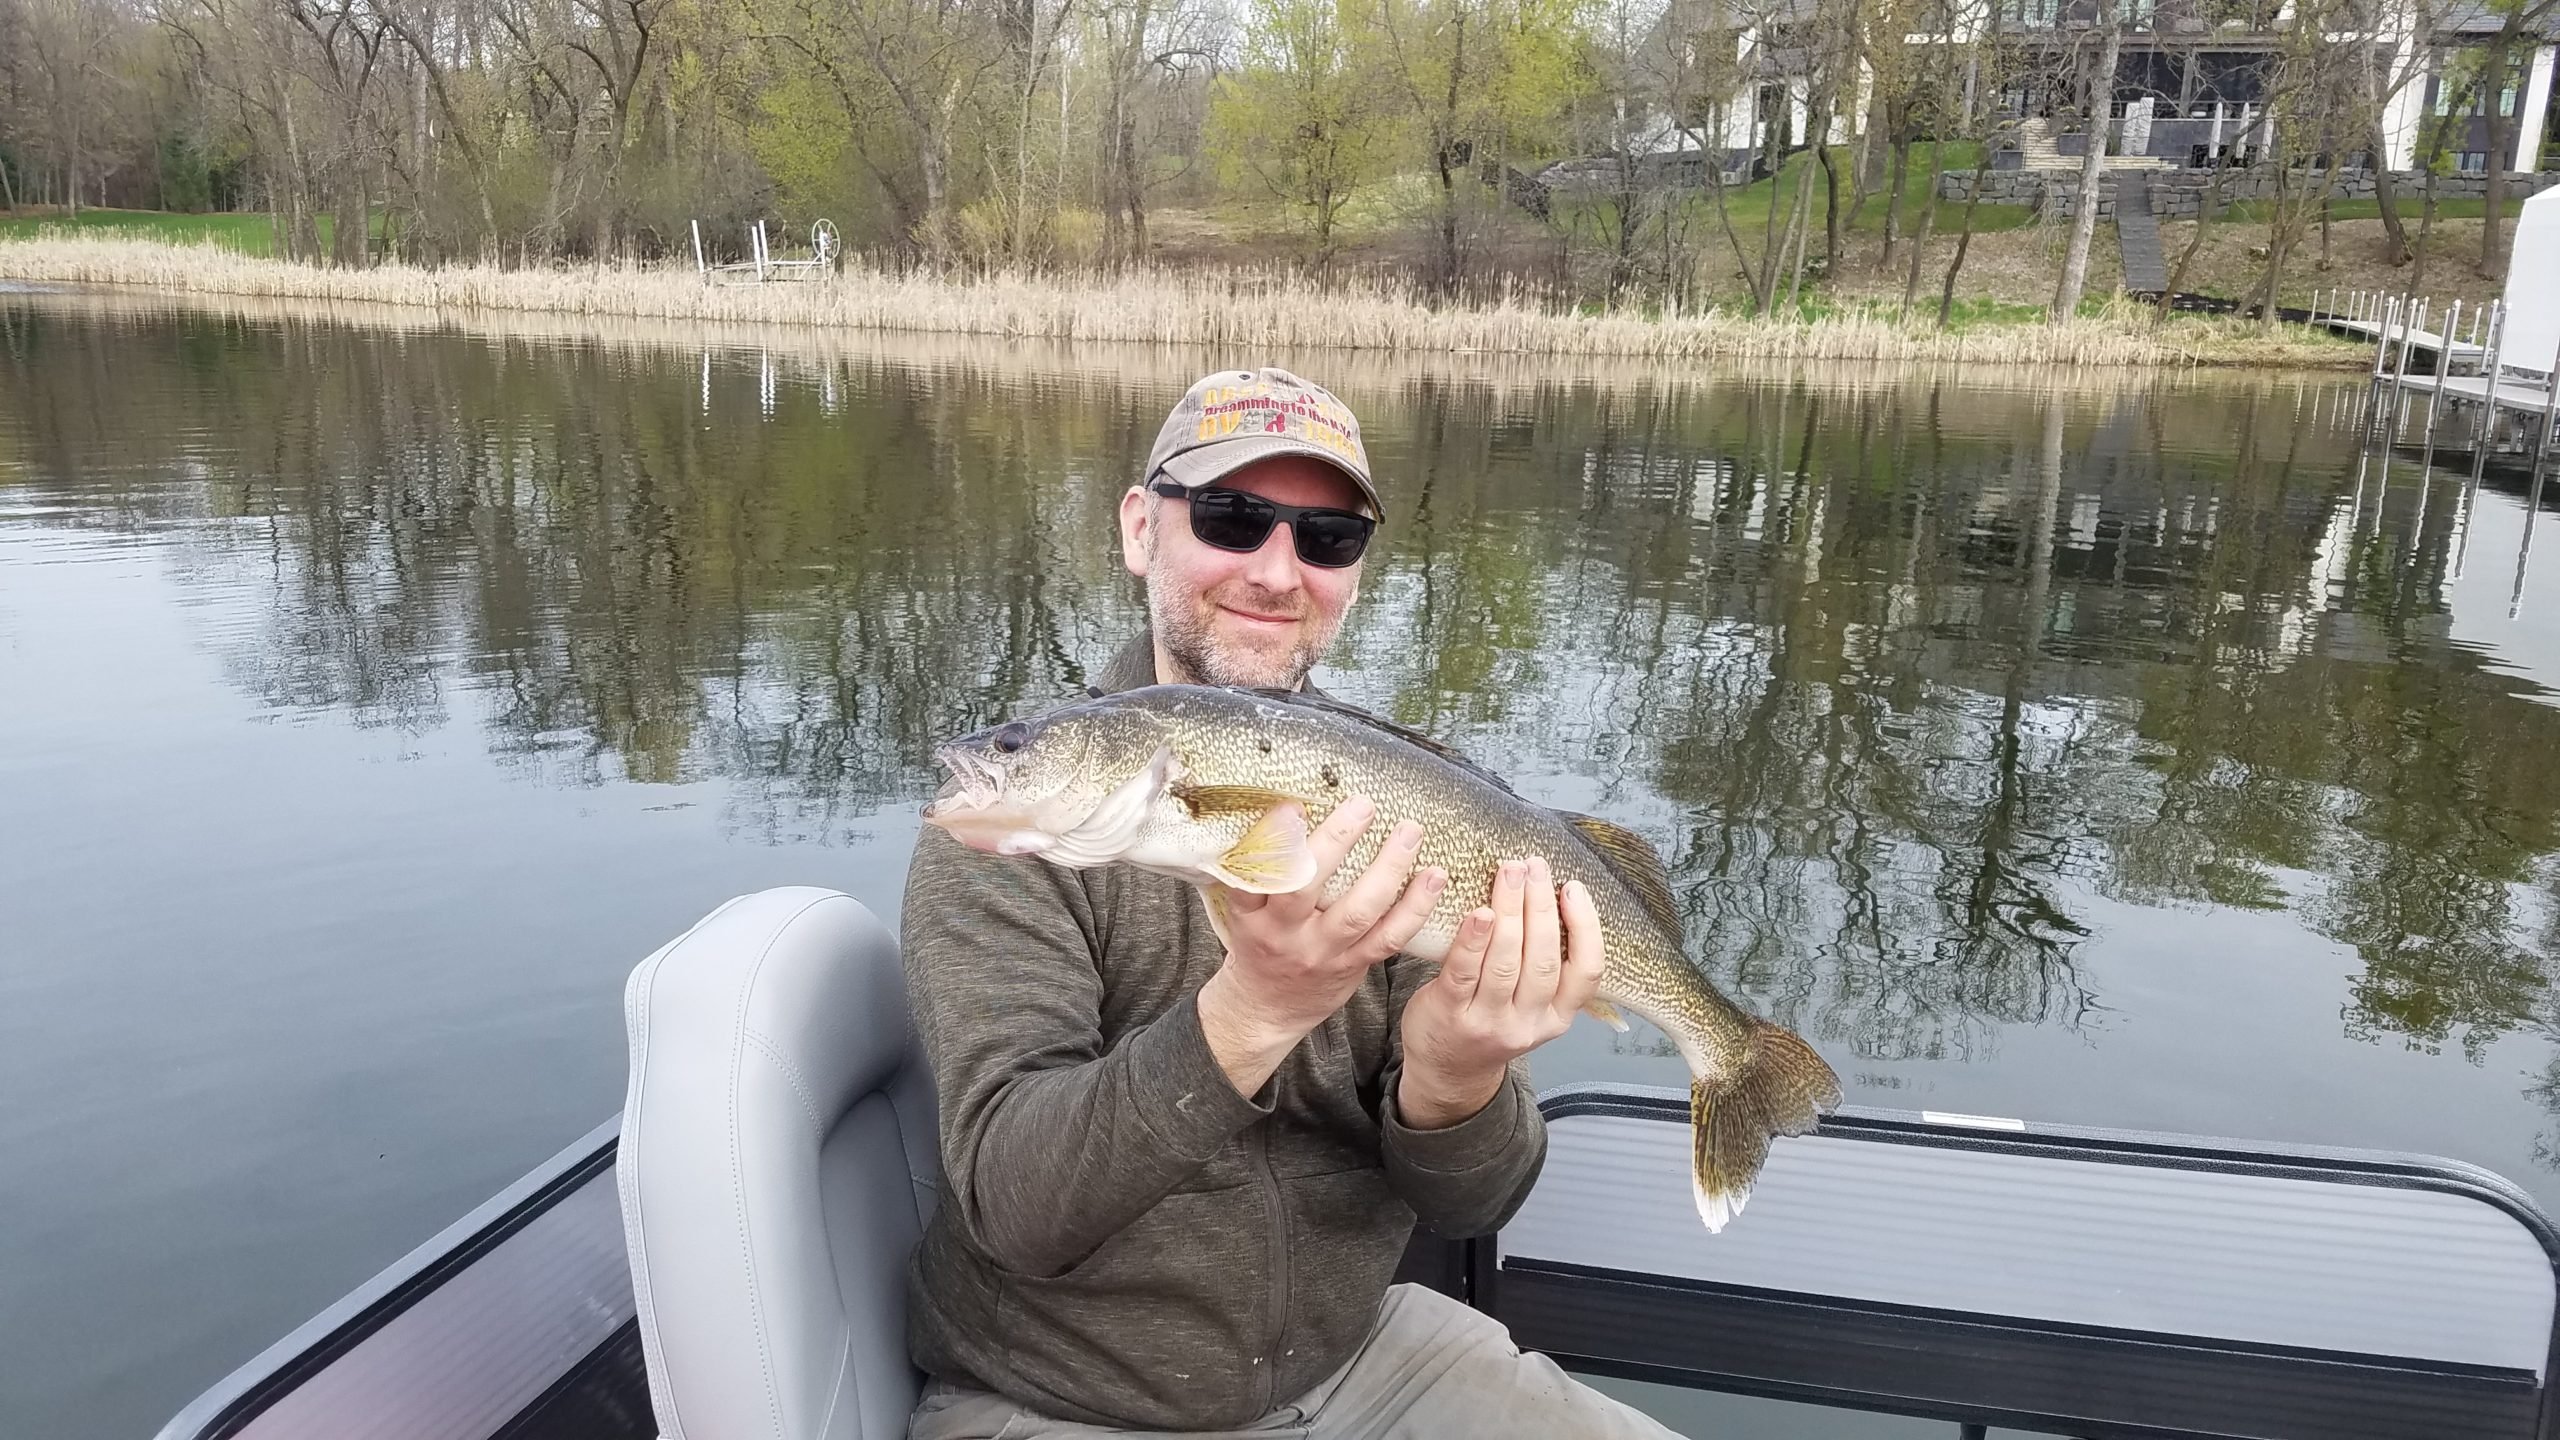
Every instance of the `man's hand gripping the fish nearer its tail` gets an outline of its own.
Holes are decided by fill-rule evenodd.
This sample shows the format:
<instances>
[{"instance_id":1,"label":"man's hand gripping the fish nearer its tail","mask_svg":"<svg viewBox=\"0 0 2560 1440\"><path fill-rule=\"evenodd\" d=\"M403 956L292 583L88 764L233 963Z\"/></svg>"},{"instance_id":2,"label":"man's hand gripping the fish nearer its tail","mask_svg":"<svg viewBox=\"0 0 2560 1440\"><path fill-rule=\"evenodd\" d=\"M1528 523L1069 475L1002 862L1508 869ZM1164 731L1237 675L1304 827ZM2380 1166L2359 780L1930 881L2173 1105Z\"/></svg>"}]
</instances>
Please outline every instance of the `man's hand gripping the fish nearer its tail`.
<instances>
[{"instance_id":1,"label":"man's hand gripping the fish nearer its tail","mask_svg":"<svg viewBox=\"0 0 2560 1440\"><path fill-rule=\"evenodd\" d=\"M1503 861L1492 904L1467 915L1441 974L1405 1002L1403 1122L1439 1130L1485 1109L1510 1061L1574 1022L1603 966L1590 889L1567 884L1559 910L1544 858Z\"/></svg>"}]
</instances>

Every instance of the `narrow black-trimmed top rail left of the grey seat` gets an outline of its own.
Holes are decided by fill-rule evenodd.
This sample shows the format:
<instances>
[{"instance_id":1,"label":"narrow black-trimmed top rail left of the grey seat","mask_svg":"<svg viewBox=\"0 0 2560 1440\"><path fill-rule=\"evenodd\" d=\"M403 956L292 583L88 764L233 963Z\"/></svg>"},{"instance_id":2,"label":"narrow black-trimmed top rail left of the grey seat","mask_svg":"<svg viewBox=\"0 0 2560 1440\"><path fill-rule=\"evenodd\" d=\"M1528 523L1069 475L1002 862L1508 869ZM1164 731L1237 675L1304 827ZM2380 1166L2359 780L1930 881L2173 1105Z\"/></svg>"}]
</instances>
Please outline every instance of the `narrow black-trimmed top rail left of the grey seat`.
<instances>
[{"instance_id":1,"label":"narrow black-trimmed top rail left of the grey seat","mask_svg":"<svg viewBox=\"0 0 2560 1440\"><path fill-rule=\"evenodd\" d=\"M294 1327L292 1335L259 1350L220 1384L207 1389L156 1440L228 1440L305 1379L325 1371L412 1304L433 1294L509 1235L532 1225L561 1199L609 1174L622 1140L622 1115L596 1125L566 1150L489 1197L479 1209L443 1227L381 1273L348 1291L338 1304ZM584 1361L581 1361L584 1363ZM576 1371L576 1366L571 1366Z\"/></svg>"}]
</instances>

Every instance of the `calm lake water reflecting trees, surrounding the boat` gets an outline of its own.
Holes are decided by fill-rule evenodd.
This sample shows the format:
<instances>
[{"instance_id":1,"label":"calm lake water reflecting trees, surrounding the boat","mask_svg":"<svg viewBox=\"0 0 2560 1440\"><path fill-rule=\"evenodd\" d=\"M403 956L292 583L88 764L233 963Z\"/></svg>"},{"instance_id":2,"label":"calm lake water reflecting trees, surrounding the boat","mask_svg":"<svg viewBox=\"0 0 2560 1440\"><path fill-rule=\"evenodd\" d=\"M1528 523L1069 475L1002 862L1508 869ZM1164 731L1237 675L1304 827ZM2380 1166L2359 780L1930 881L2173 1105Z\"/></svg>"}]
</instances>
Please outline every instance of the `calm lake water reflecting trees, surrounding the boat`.
<instances>
[{"instance_id":1,"label":"calm lake water reflecting trees, surrounding the boat","mask_svg":"<svg viewBox=\"0 0 2560 1440\"><path fill-rule=\"evenodd\" d=\"M148 1432L604 1120L719 899L893 912L1244 359L504 328L0 295L5 1435ZM2358 377L1277 359L1393 510L1321 679L1661 846L1851 1102L2560 1207L2560 556L2360 469Z\"/></svg>"}]
</instances>

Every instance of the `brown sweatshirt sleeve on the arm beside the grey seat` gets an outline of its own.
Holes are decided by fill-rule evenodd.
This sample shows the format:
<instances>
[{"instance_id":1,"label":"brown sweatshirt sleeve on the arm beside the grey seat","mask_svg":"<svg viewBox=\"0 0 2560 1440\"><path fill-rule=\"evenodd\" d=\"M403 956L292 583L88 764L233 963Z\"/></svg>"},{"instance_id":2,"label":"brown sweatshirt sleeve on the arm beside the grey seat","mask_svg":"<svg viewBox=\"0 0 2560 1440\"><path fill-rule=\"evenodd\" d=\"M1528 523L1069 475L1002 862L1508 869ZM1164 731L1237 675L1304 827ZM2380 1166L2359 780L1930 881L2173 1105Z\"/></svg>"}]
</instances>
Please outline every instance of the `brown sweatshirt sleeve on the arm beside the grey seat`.
<instances>
[{"instance_id":1,"label":"brown sweatshirt sleeve on the arm beside the grey seat","mask_svg":"<svg viewBox=\"0 0 2560 1440\"><path fill-rule=\"evenodd\" d=\"M899 922L934 1071L945 1204L1001 1266L1057 1276L1270 1115L1219 1068L1193 997L1103 1051L1075 876L927 828Z\"/></svg>"}]
</instances>

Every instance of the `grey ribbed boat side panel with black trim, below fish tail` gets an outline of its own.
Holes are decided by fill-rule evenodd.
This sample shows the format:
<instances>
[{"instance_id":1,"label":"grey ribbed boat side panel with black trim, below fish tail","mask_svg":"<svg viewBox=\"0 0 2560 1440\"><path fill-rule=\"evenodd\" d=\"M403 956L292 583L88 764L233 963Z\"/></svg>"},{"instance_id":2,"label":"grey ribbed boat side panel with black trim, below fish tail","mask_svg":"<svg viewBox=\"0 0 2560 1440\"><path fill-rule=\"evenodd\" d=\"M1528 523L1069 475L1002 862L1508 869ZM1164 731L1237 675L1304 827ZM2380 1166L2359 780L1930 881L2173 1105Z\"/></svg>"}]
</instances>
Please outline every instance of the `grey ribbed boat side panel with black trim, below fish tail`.
<instances>
[{"instance_id":1,"label":"grey ribbed boat side panel with black trim, below fish tail","mask_svg":"<svg viewBox=\"0 0 2560 1440\"><path fill-rule=\"evenodd\" d=\"M2066 1435L2560 1417L2560 1232L2458 1161L1843 1109L1708 1235L1684 1094L1541 1109L1546 1171L1485 1291L1567 1363Z\"/></svg>"}]
</instances>

